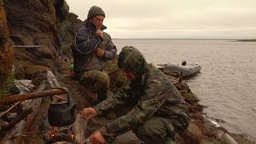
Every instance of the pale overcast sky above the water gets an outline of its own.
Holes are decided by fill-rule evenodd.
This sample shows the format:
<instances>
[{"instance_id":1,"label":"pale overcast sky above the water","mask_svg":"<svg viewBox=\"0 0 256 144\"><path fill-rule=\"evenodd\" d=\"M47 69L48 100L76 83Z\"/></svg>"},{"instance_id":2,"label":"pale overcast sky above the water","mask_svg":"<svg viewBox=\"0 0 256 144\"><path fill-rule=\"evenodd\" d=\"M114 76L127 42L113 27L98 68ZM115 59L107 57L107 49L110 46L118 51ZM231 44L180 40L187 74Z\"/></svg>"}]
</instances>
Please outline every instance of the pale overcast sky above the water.
<instances>
[{"instance_id":1,"label":"pale overcast sky above the water","mask_svg":"<svg viewBox=\"0 0 256 144\"><path fill-rule=\"evenodd\" d=\"M105 11L112 38L256 38L256 0L66 0L84 21Z\"/></svg>"}]
</instances>

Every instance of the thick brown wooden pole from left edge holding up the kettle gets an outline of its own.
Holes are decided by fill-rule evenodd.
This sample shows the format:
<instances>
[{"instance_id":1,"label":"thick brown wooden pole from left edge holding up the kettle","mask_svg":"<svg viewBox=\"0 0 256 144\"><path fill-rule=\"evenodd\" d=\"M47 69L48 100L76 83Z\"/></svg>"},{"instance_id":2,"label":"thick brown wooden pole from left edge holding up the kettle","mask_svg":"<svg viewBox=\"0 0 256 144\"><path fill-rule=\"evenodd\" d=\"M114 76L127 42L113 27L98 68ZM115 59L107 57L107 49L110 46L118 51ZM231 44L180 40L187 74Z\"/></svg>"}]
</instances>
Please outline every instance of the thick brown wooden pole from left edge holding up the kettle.
<instances>
[{"instance_id":1,"label":"thick brown wooden pole from left edge holding up the kettle","mask_svg":"<svg viewBox=\"0 0 256 144\"><path fill-rule=\"evenodd\" d=\"M0 104L24 101L26 99L48 97L51 95L58 95L58 94L66 94L66 90L52 89L52 90L43 90L43 91L38 91L38 92L33 92L28 94L15 94L15 95L7 96L4 98L0 98Z\"/></svg>"}]
</instances>

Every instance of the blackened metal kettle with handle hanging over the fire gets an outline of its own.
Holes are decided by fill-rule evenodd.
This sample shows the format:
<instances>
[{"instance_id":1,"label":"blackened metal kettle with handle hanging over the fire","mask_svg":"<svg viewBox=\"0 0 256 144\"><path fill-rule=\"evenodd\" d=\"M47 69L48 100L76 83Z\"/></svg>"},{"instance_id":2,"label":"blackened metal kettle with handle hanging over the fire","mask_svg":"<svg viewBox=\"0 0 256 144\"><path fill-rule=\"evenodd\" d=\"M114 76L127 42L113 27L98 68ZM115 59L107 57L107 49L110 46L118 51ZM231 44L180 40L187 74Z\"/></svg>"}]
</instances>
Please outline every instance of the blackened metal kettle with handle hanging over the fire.
<instances>
[{"instance_id":1,"label":"blackened metal kettle with handle hanging over the fire","mask_svg":"<svg viewBox=\"0 0 256 144\"><path fill-rule=\"evenodd\" d=\"M70 93L66 88L58 88L66 90L67 100L50 101L50 108L48 110L48 121L51 126L67 126L74 122L74 110L77 106L70 102Z\"/></svg>"}]
</instances>

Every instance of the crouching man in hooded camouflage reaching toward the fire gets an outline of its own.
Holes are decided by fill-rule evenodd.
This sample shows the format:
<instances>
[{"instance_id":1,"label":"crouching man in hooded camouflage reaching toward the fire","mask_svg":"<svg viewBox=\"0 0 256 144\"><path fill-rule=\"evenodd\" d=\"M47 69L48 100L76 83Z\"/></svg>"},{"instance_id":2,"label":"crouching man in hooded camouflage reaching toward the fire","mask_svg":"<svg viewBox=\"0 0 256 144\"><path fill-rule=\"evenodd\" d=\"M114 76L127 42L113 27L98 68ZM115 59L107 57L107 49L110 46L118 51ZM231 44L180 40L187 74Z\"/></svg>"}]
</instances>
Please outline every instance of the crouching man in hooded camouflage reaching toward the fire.
<instances>
[{"instance_id":1,"label":"crouching man in hooded camouflage reaching toward the fire","mask_svg":"<svg viewBox=\"0 0 256 144\"><path fill-rule=\"evenodd\" d=\"M134 103L126 115L107 123L90 135L90 142L113 142L129 130L145 143L166 143L190 123L186 102L166 75L149 65L142 53L132 46L122 48L118 66L130 80L130 87L119 91L82 114L90 120L106 110Z\"/></svg>"}]
</instances>

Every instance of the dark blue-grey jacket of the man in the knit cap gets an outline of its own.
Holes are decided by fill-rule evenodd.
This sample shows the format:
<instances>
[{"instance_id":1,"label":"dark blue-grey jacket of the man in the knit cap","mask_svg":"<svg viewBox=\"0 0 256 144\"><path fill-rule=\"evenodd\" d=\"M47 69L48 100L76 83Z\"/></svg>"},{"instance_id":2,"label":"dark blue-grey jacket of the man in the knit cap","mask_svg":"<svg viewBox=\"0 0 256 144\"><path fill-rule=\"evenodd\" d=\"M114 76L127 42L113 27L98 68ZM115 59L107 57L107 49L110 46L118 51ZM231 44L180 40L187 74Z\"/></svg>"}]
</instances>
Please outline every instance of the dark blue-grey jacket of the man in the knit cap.
<instances>
[{"instance_id":1,"label":"dark blue-grey jacket of the man in the knit cap","mask_svg":"<svg viewBox=\"0 0 256 144\"><path fill-rule=\"evenodd\" d=\"M106 26L102 26L102 30L105 29ZM86 70L102 70L106 66L106 61L115 58L117 49L110 35L103 32L103 38L101 38L95 35L95 32L96 26L86 20L74 38L72 52L74 55L74 74L76 78ZM104 58L99 58L95 54L97 48L105 51Z\"/></svg>"}]
</instances>

